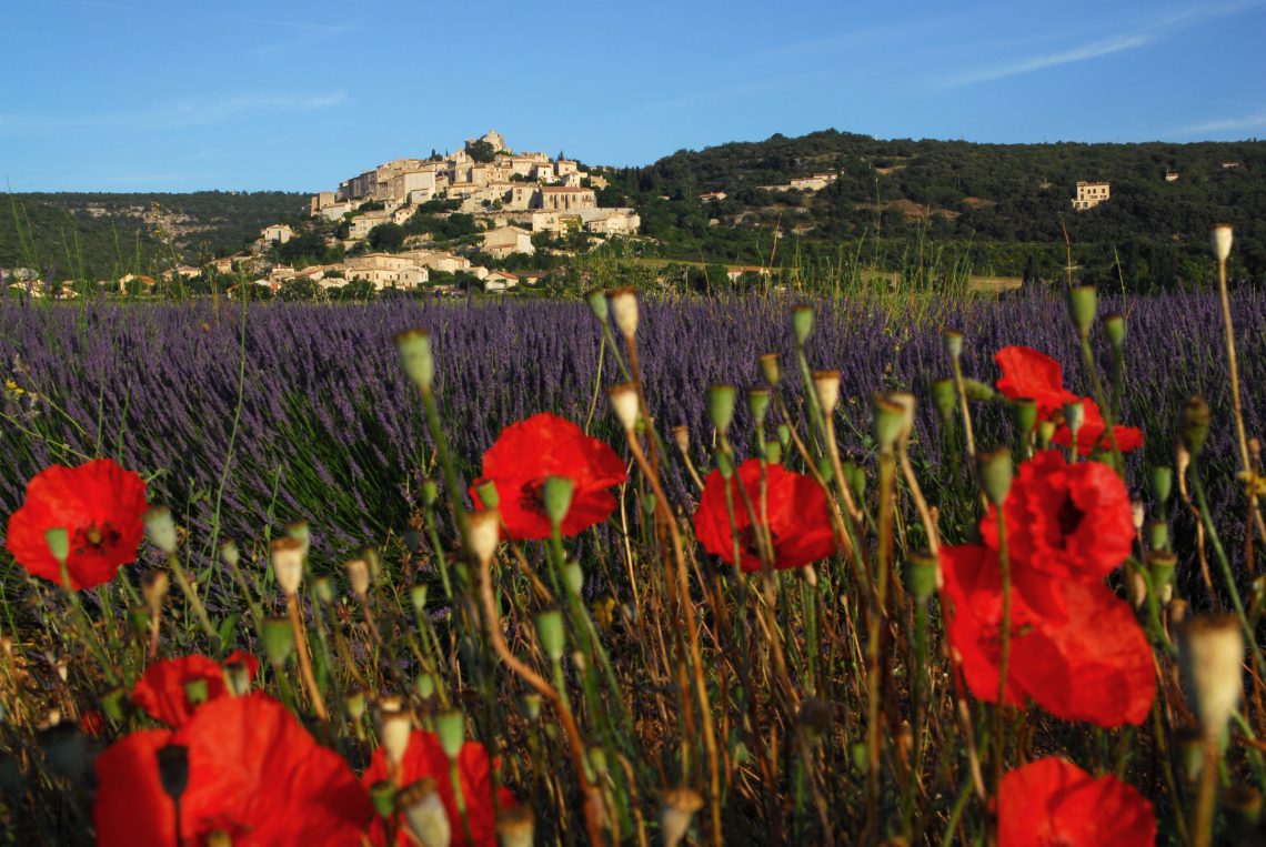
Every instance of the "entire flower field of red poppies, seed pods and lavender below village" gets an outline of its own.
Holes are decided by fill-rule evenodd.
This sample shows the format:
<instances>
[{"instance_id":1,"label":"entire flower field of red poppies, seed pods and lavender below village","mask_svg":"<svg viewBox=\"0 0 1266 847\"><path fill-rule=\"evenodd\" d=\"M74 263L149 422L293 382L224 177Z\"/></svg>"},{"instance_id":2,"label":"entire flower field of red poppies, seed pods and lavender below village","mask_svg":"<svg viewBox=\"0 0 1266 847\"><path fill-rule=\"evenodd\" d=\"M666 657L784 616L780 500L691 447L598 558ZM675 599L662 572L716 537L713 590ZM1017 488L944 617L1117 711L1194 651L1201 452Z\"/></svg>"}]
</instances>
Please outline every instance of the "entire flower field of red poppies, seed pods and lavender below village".
<instances>
[{"instance_id":1,"label":"entire flower field of red poppies, seed pods and lavender below village","mask_svg":"<svg viewBox=\"0 0 1266 847\"><path fill-rule=\"evenodd\" d=\"M1120 311L9 308L5 446L76 466L4 491L15 843L1252 843L1266 322L1214 246Z\"/></svg>"}]
</instances>

